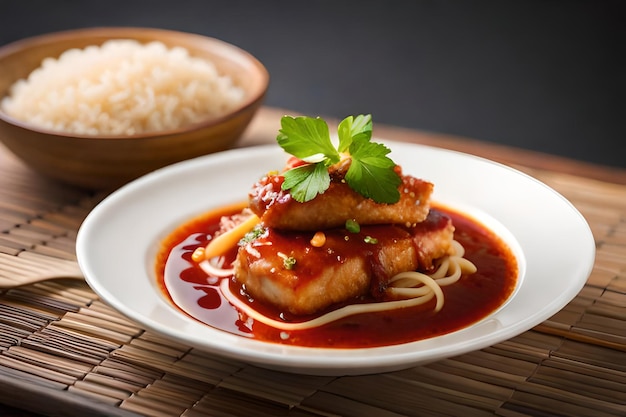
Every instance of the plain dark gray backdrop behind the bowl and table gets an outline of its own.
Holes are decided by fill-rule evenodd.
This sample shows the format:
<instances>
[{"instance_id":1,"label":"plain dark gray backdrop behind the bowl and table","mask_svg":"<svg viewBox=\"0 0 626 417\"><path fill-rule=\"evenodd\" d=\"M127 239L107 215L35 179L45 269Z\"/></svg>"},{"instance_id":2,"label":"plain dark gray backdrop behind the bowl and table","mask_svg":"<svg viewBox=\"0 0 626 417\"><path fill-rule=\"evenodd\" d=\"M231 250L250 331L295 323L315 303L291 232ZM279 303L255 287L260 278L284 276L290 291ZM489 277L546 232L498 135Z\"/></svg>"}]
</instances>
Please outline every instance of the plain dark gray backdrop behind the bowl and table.
<instances>
[{"instance_id":1,"label":"plain dark gray backdrop behind the bowl and table","mask_svg":"<svg viewBox=\"0 0 626 417\"><path fill-rule=\"evenodd\" d=\"M626 167L625 4L0 0L0 44L88 26L206 34L267 66L268 105Z\"/></svg>"}]
</instances>

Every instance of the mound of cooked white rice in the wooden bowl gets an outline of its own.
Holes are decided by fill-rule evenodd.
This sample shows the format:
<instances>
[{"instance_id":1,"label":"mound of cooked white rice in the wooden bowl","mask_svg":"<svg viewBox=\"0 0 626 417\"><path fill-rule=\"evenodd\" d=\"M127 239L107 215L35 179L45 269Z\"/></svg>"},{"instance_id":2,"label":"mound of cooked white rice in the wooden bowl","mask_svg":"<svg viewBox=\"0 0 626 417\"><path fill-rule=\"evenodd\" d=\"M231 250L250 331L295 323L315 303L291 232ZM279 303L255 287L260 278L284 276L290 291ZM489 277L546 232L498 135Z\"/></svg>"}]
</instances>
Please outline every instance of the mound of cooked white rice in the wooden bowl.
<instances>
[{"instance_id":1,"label":"mound of cooked white rice in the wooden bowl","mask_svg":"<svg viewBox=\"0 0 626 417\"><path fill-rule=\"evenodd\" d=\"M80 135L176 129L237 106L244 91L215 66L161 42L111 40L47 58L2 100L12 117Z\"/></svg>"}]
</instances>

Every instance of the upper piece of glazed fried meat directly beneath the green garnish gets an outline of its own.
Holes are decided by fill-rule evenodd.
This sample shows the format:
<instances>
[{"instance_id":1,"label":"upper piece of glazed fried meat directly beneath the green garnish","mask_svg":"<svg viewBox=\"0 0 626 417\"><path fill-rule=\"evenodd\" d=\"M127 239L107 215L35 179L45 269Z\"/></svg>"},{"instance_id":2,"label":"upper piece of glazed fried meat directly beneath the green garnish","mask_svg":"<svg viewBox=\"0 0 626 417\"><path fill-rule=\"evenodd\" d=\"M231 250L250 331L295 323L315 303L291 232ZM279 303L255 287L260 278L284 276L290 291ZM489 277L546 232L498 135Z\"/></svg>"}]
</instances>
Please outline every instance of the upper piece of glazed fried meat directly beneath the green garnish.
<instances>
[{"instance_id":1,"label":"upper piece of glazed fried meat directly beneath the green garnish","mask_svg":"<svg viewBox=\"0 0 626 417\"><path fill-rule=\"evenodd\" d=\"M250 208L268 227L284 230L316 231L341 227L346 220L360 225L413 225L423 221L430 207L433 184L400 174L400 201L380 204L352 190L344 180L345 165L331 167L330 187L313 200L300 203L281 185L284 177L268 175L257 182L249 195Z\"/></svg>"}]
</instances>

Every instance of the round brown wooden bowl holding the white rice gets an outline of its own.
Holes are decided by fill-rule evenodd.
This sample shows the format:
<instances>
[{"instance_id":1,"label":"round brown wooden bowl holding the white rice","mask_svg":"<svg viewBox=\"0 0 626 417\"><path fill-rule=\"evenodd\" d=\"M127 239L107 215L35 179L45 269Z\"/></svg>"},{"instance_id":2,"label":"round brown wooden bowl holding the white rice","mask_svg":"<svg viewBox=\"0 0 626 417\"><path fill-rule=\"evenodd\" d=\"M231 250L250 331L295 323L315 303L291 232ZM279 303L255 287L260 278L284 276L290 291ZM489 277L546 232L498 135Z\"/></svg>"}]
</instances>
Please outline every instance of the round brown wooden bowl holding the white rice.
<instances>
[{"instance_id":1,"label":"round brown wooden bowl holding the white rice","mask_svg":"<svg viewBox=\"0 0 626 417\"><path fill-rule=\"evenodd\" d=\"M160 41L182 46L229 75L245 91L233 111L177 130L132 136L60 133L25 123L0 109L0 140L33 169L72 185L104 189L120 186L157 168L231 148L260 107L269 84L265 67L240 48L190 33L149 28L93 28L57 32L0 48L0 98L18 79L27 78L46 57L70 48L100 45L110 39Z\"/></svg>"}]
</instances>

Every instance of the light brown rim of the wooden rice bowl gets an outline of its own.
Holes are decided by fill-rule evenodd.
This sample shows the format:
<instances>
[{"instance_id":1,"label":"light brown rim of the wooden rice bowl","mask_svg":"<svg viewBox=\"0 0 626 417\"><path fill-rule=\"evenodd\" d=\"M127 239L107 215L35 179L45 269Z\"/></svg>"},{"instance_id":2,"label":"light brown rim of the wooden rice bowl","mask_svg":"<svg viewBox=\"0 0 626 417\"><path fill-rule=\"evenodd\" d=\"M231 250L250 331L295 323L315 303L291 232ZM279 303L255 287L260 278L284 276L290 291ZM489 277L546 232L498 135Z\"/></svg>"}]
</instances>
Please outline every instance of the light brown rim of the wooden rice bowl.
<instances>
[{"instance_id":1,"label":"light brown rim of the wooden rice bowl","mask_svg":"<svg viewBox=\"0 0 626 417\"><path fill-rule=\"evenodd\" d=\"M43 33L40 35L34 35L22 39L18 39L16 41L10 42L5 45L0 46L0 62L7 56L10 56L16 53L19 50L23 50L25 48L30 48L36 45L46 45L51 43L56 43L60 40L73 39L77 36L86 35L86 36L101 36L103 38L110 39L132 39L137 34L146 35L146 36L154 36L155 41L158 41L159 35L173 35L180 38L187 39L195 39L197 41L209 42L210 44L214 44L219 46L220 48L228 49L234 53L236 53L243 60L247 61L251 64L251 67L255 69L255 72L260 79L256 85L256 88L251 90L251 93L245 97L245 99L237 105L234 109L229 111L226 114L222 114L216 117L212 117L210 119L200 121L197 123L193 123L187 125L185 127L180 127L176 129L168 129L168 130L159 130L159 131L150 131L150 132L141 132L134 135L84 135L77 134L66 131L57 131L52 129L45 129L39 126L36 126L32 123L25 122L23 120L19 120L8 113L6 113L2 106L0 106L0 120L5 123L14 125L16 127L22 128L24 130L30 130L33 132L38 132L41 134L46 134L50 136L59 136L65 138L77 138L77 139L103 139L103 140L123 140L123 139L150 139L150 138L162 138L167 136L180 135L182 133L190 133L194 131L200 131L206 128L210 128L213 126L218 126L224 123L227 120L234 119L238 117L240 114L247 112L251 107L256 106L267 94L267 90L270 82L270 75L265 67L265 65L250 52L242 49L241 47L229 43L227 41L207 36L194 32L185 32L180 30L172 30L172 29L162 29L155 27L141 27L141 26L97 26L97 27L87 27L87 28L77 28L77 29L68 29L68 30L59 30L55 32ZM181 45L183 46L183 45ZM184 46L183 46L184 47ZM38 67L33 68L36 69ZM32 70L31 70L32 72ZM19 79L19 78L18 78ZM18 79L12 80L12 83L18 81ZM0 97L0 101L4 99L6 95Z\"/></svg>"}]
</instances>

